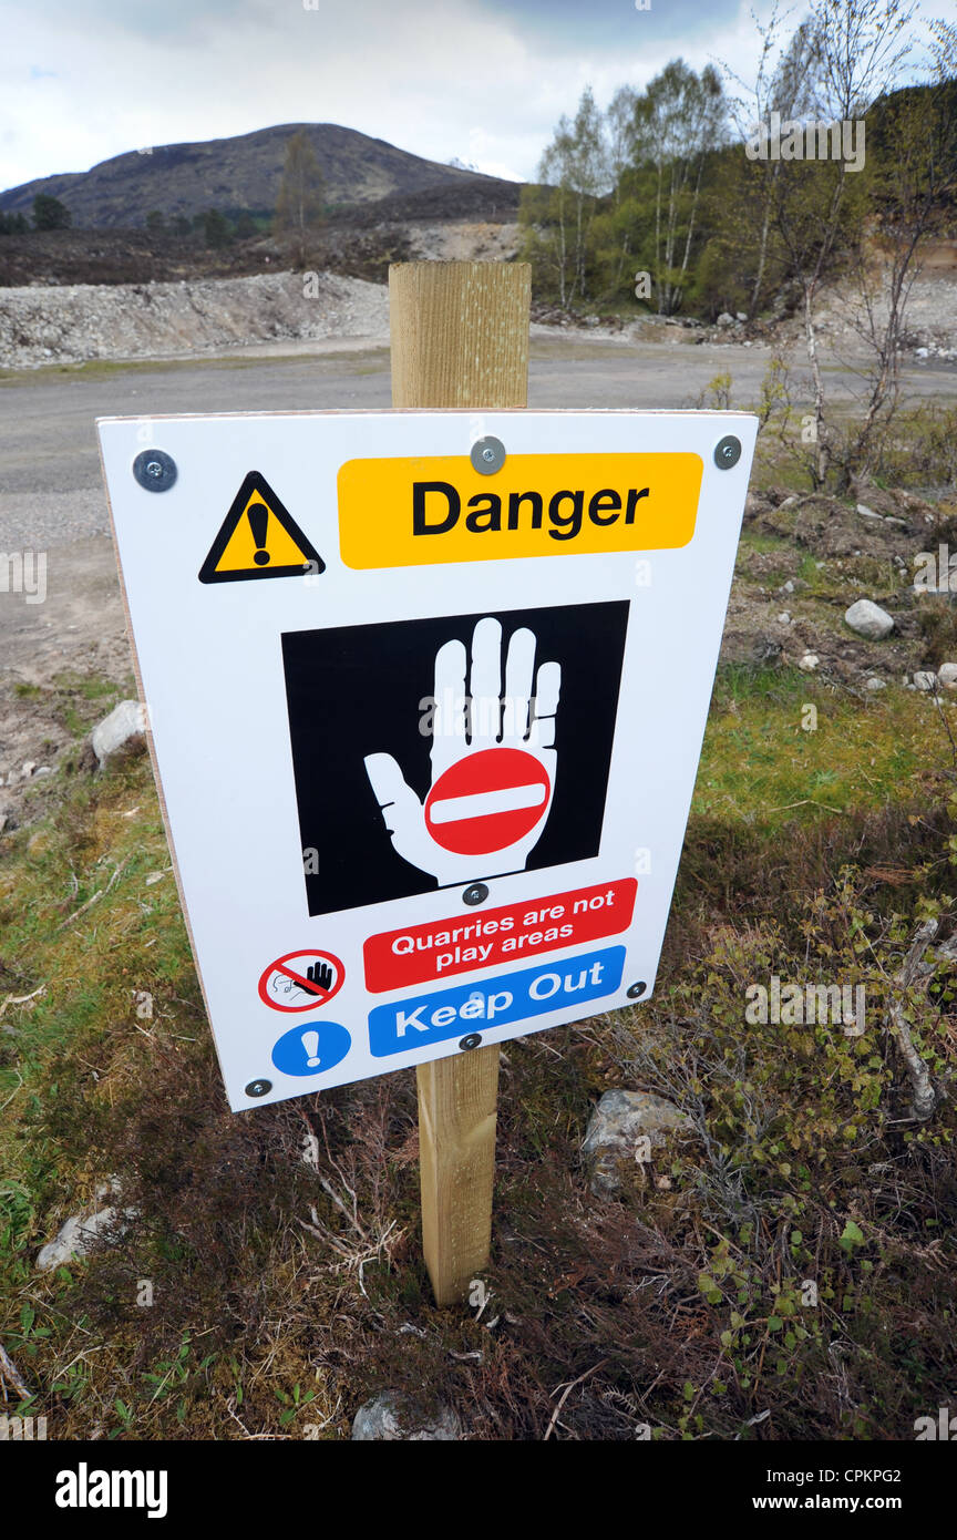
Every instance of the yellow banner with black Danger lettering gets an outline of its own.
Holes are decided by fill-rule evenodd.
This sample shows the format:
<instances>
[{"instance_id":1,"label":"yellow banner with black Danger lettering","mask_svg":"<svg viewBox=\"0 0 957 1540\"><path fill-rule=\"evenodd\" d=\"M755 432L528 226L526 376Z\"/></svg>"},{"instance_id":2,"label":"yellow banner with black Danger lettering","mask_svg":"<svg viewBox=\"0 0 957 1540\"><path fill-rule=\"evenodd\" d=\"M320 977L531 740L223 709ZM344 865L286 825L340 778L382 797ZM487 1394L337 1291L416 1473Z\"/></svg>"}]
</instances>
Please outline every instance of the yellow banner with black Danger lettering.
<instances>
[{"instance_id":1,"label":"yellow banner with black Danger lettering","mask_svg":"<svg viewBox=\"0 0 957 1540\"><path fill-rule=\"evenodd\" d=\"M688 545L700 454L514 454L494 476L468 456L346 460L346 567L422 567Z\"/></svg>"}]
</instances>

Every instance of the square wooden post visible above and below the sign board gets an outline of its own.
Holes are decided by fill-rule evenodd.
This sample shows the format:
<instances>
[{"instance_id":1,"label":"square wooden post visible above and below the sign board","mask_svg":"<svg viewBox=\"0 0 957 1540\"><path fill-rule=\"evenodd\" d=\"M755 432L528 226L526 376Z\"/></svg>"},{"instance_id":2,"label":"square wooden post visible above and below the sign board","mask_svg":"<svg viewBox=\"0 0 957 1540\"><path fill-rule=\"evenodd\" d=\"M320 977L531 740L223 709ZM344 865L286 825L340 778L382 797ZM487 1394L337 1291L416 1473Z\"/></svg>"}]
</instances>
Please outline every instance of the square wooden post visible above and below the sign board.
<instances>
[{"instance_id":1,"label":"square wooden post visible above and below the sign board","mask_svg":"<svg viewBox=\"0 0 957 1540\"><path fill-rule=\"evenodd\" d=\"M525 407L531 268L389 268L394 407ZM422 1241L437 1304L466 1298L489 1255L499 1047L420 1064Z\"/></svg>"}]
</instances>

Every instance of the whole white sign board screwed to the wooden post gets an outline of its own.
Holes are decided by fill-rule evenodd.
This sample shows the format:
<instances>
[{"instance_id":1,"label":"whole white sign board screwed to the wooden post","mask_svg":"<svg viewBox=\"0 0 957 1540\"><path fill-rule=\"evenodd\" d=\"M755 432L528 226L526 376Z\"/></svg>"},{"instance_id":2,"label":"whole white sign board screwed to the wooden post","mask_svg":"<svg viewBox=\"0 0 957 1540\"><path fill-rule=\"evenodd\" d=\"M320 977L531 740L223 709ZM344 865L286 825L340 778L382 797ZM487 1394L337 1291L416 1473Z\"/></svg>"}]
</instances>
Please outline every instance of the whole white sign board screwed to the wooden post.
<instances>
[{"instance_id":1,"label":"whole white sign board screwed to the wooden post","mask_svg":"<svg viewBox=\"0 0 957 1540\"><path fill-rule=\"evenodd\" d=\"M755 419L98 427L234 1110L646 999Z\"/></svg>"}]
</instances>

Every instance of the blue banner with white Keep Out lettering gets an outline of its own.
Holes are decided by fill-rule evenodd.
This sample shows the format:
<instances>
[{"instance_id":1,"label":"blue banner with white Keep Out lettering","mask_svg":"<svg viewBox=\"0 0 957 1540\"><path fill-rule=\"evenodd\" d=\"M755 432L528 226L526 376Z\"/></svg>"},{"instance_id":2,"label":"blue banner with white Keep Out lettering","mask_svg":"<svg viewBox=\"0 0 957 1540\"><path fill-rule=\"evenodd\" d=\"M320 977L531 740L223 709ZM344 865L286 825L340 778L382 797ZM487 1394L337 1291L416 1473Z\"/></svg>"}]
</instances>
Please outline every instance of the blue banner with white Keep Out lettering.
<instances>
[{"instance_id":1,"label":"blue banner with white Keep Out lettering","mask_svg":"<svg viewBox=\"0 0 957 1540\"><path fill-rule=\"evenodd\" d=\"M480 984L460 984L458 989L377 1006L369 1013L369 1047L375 1058L388 1058L426 1043L445 1043L446 1038L600 999L615 993L623 969L625 947L606 947L520 973L502 973Z\"/></svg>"}]
</instances>

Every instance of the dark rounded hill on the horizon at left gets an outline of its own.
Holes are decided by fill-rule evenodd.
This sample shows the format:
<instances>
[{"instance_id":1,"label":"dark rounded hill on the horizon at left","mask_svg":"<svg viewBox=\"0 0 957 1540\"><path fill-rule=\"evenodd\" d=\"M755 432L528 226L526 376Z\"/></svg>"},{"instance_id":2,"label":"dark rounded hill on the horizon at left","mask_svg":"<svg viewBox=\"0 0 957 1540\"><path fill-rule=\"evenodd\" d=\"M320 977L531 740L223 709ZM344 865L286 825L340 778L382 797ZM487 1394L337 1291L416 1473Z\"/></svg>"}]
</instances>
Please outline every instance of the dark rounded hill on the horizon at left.
<instances>
[{"instance_id":1,"label":"dark rounded hill on the horizon at left","mask_svg":"<svg viewBox=\"0 0 957 1540\"><path fill-rule=\"evenodd\" d=\"M32 209L37 192L60 199L80 228L140 226L152 209L166 216L272 213L286 142L308 134L332 208L348 209L425 199L455 214L517 208L520 183L412 156L383 139L337 123L282 123L232 139L157 145L102 160L91 171L62 172L0 192L3 213Z\"/></svg>"}]
</instances>

